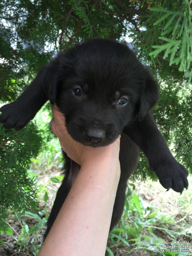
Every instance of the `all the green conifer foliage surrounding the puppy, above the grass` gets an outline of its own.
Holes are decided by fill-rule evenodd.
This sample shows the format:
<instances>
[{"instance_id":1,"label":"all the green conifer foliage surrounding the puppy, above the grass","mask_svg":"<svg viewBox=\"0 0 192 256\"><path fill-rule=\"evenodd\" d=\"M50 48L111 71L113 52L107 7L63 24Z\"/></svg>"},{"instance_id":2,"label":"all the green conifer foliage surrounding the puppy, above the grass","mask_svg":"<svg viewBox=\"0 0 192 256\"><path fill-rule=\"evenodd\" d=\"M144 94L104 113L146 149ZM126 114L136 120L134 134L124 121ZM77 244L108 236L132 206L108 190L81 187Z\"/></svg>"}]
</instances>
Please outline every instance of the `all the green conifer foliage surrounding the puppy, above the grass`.
<instances>
[{"instance_id":1,"label":"all the green conifer foliage surrounding the puppy, above the grass","mask_svg":"<svg viewBox=\"0 0 192 256\"><path fill-rule=\"evenodd\" d=\"M192 3L189 0L2 0L0 103L13 101L60 50L87 38L130 36L160 84L153 113L176 159L192 172ZM41 138L34 124L0 125L0 214L35 206L27 177ZM133 178L151 177L143 153ZM2 225L2 221L0 225Z\"/></svg>"}]
</instances>

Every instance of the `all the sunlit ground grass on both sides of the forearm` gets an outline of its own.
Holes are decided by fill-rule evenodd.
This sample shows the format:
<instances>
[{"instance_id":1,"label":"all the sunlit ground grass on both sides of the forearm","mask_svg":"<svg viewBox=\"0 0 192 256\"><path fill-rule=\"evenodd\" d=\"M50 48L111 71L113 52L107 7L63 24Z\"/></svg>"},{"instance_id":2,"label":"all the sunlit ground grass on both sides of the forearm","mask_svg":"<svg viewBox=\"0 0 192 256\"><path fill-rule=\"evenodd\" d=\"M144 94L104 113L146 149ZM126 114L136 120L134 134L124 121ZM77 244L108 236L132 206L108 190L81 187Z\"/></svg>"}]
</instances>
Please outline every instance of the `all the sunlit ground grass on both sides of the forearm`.
<instances>
[{"instance_id":1,"label":"all the sunlit ground grass on both sides of the forearm","mask_svg":"<svg viewBox=\"0 0 192 256\"><path fill-rule=\"evenodd\" d=\"M48 129L47 112L37 116L39 127ZM46 138L45 132L45 141ZM53 136L37 159L31 159L29 177L35 177L38 206L34 212L9 211L9 229L0 234L0 256L37 255L62 176L59 140ZM165 189L159 182L147 180L128 184L121 221L110 232L106 256L192 255L192 177L182 195ZM170 252L172 241L189 241L189 252ZM155 250L164 250L154 251Z\"/></svg>"}]
</instances>

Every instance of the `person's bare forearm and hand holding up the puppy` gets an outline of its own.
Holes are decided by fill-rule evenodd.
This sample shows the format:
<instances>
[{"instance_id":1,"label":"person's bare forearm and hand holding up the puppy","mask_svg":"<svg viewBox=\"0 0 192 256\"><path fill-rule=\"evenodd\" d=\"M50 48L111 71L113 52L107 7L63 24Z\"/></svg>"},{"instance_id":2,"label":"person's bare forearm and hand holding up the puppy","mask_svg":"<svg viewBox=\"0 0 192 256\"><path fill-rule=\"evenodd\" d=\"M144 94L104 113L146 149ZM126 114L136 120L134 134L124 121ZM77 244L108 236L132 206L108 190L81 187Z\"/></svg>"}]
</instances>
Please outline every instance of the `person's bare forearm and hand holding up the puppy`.
<instances>
[{"instance_id":1,"label":"person's bare forearm and hand holding up the puppy","mask_svg":"<svg viewBox=\"0 0 192 256\"><path fill-rule=\"evenodd\" d=\"M52 113L53 133L81 167L38 256L104 255L120 179L120 137L106 147L84 146L68 134L56 106Z\"/></svg>"}]
</instances>

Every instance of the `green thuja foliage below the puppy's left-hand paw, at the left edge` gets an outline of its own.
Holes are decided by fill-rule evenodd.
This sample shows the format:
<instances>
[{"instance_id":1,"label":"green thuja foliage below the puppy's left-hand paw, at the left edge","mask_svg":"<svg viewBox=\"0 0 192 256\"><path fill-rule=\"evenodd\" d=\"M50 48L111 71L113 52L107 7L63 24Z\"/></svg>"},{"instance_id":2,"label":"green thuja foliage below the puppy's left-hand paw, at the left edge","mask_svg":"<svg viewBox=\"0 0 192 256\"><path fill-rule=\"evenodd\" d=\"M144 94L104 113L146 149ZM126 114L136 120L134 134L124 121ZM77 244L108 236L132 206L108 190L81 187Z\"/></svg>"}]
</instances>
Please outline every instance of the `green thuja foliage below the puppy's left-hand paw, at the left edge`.
<instances>
[{"instance_id":1,"label":"green thuja foliage below the puppy's left-hand paw, at the left edge","mask_svg":"<svg viewBox=\"0 0 192 256\"><path fill-rule=\"evenodd\" d=\"M5 130L0 124L0 229L5 229L8 209L35 209L34 181L27 176L31 157L37 157L42 139L33 123L21 131Z\"/></svg>"}]
</instances>

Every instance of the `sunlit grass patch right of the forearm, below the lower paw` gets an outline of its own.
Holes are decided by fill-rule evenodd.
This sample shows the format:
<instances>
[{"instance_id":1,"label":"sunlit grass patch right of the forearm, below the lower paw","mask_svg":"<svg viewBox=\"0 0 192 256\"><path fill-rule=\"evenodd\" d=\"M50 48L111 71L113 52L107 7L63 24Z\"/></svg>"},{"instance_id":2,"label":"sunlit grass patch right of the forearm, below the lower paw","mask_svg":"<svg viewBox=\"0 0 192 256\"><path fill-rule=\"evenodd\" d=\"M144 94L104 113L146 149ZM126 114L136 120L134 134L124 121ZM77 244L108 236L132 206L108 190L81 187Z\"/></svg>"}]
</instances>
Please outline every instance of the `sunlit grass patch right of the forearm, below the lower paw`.
<instances>
[{"instance_id":1,"label":"sunlit grass patch right of the forearm, below the lower paw","mask_svg":"<svg viewBox=\"0 0 192 256\"><path fill-rule=\"evenodd\" d=\"M136 184L133 193L128 189L129 199L120 223L109 234L106 255L191 255L192 177L188 180L182 195L165 192L151 180ZM189 241L189 252L166 252L171 241Z\"/></svg>"}]
</instances>

